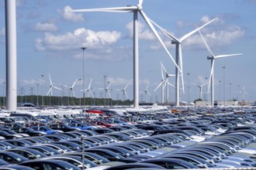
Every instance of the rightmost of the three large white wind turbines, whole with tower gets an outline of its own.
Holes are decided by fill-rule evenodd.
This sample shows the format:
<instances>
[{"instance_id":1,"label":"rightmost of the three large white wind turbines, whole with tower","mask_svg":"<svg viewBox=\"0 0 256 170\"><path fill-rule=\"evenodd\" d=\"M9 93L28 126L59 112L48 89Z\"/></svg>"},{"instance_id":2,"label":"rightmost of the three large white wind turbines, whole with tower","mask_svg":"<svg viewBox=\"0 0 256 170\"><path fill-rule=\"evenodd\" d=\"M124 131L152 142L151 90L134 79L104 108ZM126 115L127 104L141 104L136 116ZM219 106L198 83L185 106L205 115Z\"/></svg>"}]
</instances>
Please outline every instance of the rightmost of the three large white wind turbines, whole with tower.
<instances>
[{"instance_id":1,"label":"rightmost of the three large white wind turbines, whole with tower","mask_svg":"<svg viewBox=\"0 0 256 170\"><path fill-rule=\"evenodd\" d=\"M206 40L203 38L202 33L200 31L199 31L199 34L201 35L202 41L205 43L206 48L210 54L210 56L207 56L207 59L211 59L211 73L209 76L209 80L211 81L211 83L209 83L209 86L211 86L211 105L214 106L214 62L215 62L215 59L220 59L220 58L227 57L227 56L239 56L239 55L242 55L242 53L215 56L213 54L212 50L209 49L209 46L208 46ZM209 86L208 86L208 91L209 91Z\"/></svg>"}]
</instances>

